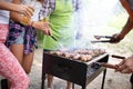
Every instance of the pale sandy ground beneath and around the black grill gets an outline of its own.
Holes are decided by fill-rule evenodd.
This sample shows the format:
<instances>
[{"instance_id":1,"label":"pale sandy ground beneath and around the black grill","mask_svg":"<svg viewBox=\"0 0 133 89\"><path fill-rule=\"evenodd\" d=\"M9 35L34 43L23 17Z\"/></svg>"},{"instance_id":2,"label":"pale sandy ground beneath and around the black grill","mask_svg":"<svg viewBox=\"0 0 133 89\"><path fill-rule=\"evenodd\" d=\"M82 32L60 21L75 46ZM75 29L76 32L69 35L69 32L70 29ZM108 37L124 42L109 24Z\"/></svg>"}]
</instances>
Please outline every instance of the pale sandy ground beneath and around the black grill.
<instances>
[{"instance_id":1,"label":"pale sandy ground beneath and around the black grill","mask_svg":"<svg viewBox=\"0 0 133 89\"><path fill-rule=\"evenodd\" d=\"M110 57L110 63L116 63L120 60ZM29 89L41 89L41 70L42 69L42 50L35 50L34 61L32 66L32 71L29 75L31 79L31 85ZM101 89L102 76L98 76L91 83L86 86L86 89ZM1 77L2 78L2 77ZM108 69L104 89L131 89L129 82L130 75L114 72L113 69ZM59 78L54 78L53 81L54 89L65 89L65 81ZM81 89L80 86L75 86L75 89Z\"/></svg>"}]
</instances>

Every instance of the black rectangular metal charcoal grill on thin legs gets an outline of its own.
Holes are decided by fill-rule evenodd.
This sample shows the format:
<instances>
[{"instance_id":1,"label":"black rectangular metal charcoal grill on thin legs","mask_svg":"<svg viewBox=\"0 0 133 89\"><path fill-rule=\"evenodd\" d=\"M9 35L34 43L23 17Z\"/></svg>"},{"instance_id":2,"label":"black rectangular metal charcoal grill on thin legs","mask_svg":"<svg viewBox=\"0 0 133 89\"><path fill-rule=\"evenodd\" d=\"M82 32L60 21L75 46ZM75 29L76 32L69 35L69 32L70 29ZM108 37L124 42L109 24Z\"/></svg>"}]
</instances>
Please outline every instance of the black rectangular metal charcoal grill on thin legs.
<instances>
[{"instance_id":1,"label":"black rectangular metal charcoal grill on thin legs","mask_svg":"<svg viewBox=\"0 0 133 89\"><path fill-rule=\"evenodd\" d=\"M106 68L95 62L108 62L108 53L94 57L93 60L89 62L82 62L79 60L70 60L66 58L58 57L43 51L41 89L44 89L45 73L71 81L81 86L82 89L85 89L85 87L102 71L103 79L101 89L103 89Z\"/></svg>"}]
</instances>

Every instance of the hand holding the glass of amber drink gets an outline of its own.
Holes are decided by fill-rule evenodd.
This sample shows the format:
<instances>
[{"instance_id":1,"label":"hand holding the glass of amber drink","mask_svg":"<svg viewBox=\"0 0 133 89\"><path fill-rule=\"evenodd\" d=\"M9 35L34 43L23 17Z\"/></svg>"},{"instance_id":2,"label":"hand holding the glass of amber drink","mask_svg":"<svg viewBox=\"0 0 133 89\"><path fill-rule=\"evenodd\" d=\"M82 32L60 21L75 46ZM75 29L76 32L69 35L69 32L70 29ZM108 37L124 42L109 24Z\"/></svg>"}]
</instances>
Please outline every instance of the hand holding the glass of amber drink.
<instances>
[{"instance_id":1,"label":"hand holding the glass of amber drink","mask_svg":"<svg viewBox=\"0 0 133 89\"><path fill-rule=\"evenodd\" d=\"M32 7L27 4L17 4L16 7L17 12L24 14L28 18L31 18L33 16L34 9Z\"/></svg>"}]
</instances>

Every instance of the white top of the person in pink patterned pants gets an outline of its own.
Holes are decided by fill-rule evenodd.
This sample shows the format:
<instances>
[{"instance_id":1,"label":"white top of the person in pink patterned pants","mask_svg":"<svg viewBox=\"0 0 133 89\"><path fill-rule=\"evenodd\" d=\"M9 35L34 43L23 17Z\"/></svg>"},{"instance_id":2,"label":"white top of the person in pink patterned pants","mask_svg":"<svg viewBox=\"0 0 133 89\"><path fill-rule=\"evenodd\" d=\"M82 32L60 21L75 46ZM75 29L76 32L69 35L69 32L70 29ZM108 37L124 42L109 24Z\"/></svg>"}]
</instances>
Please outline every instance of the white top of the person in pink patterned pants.
<instances>
[{"instance_id":1,"label":"white top of the person in pink patterned pants","mask_svg":"<svg viewBox=\"0 0 133 89\"><path fill-rule=\"evenodd\" d=\"M4 0L7 2L11 2L12 0ZM9 11L0 10L0 23L8 24L9 23Z\"/></svg>"}]
</instances>

